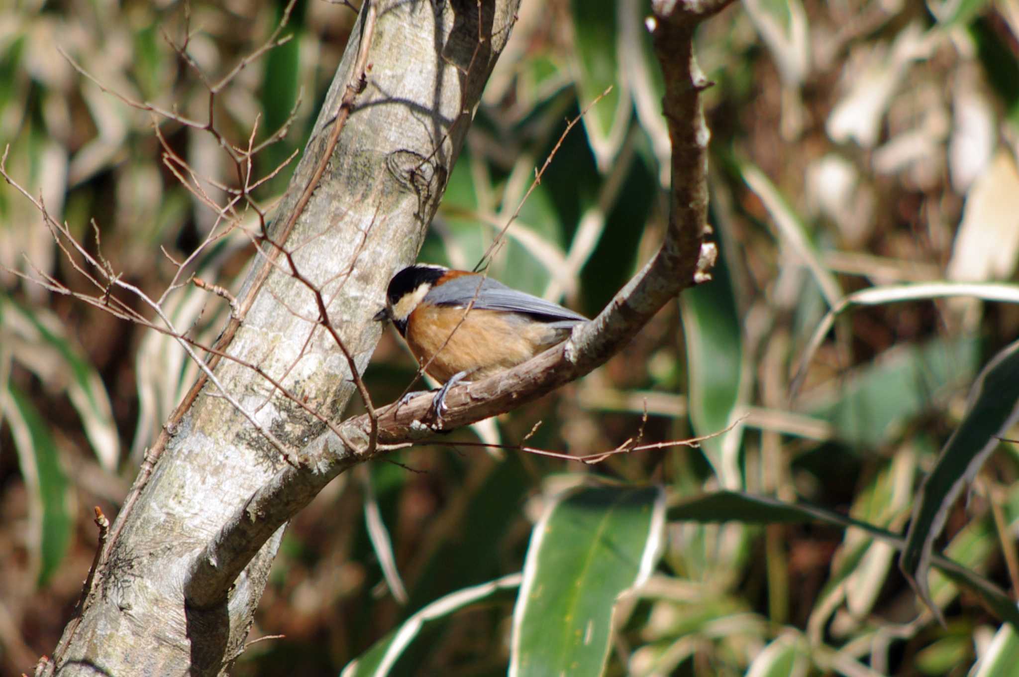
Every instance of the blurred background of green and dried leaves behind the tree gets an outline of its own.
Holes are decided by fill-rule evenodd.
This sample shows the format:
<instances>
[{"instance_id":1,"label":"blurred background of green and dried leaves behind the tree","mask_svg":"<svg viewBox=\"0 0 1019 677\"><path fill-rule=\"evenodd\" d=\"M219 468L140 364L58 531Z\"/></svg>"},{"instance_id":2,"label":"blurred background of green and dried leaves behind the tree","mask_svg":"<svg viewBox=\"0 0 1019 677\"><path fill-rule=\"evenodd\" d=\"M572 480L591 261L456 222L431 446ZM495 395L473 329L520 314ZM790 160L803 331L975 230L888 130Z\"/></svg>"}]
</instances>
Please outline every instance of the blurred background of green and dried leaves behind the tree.
<instances>
[{"instance_id":1,"label":"blurred background of green and dried leaves behind the tree","mask_svg":"<svg viewBox=\"0 0 1019 677\"><path fill-rule=\"evenodd\" d=\"M421 260L472 268L567 121L609 85L562 141L490 274L593 316L647 260L666 217L671 151L648 11L524 0ZM170 43L190 36L187 54L215 81L281 13L255 0L6 5L7 171L158 298L174 272L167 257L189 256L217 222L164 163L154 120L214 199L234 167L214 137L124 105L58 48L109 90L206 120L208 88ZM234 145L289 120L256 174L303 148L354 19L338 4L298 2L292 39L215 98L216 128ZM436 447L348 473L291 523L252 638L285 636L252 645L235 674L336 674L428 603L519 571L542 496L577 475L661 483L677 505L719 489L804 501L904 532L978 371L1019 336L1019 3L748 0L702 27L698 53L715 83L714 281L603 368L454 438L517 444L541 421L529 445L581 455L640 430L653 442L736 427L699 449L595 466ZM287 179L284 169L259 199L271 205ZM251 253L234 235L191 270L235 290ZM81 591L97 542L92 506L116 514L197 369L167 337L16 276L84 289L39 212L6 185L0 263L0 672L17 674L52 650ZM940 298L941 281L1011 284L975 292L996 299L981 301ZM907 283L908 300L878 295L843 313L808 353L846 295ZM228 312L194 287L164 308L205 342ZM367 374L374 400L397 397L414 366L387 332ZM1002 398L1014 406L1013 392ZM966 500L945 508L936 540L1013 598L1017 471L1016 445L1002 441ZM721 526L669 521L654 575L616 616L608 674L1015 674L991 659L1019 650L1016 636L979 594L931 574L940 625L894 548L834 522L753 512ZM389 556L405 594L390 592L391 572L386 582ZM493 600L430 629L399 670L502 674L512 606Z\"/></svg>"}]
</instances>

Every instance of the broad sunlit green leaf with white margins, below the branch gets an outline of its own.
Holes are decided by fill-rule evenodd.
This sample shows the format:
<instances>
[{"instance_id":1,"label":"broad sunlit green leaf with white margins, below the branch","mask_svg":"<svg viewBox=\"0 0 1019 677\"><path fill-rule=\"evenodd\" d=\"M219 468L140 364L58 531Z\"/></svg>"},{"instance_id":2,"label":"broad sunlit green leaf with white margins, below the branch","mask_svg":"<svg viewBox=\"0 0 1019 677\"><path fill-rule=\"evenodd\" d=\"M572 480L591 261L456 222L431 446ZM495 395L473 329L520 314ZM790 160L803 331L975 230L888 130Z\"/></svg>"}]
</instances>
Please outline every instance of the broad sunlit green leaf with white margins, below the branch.
<instances>
[{"instance_id":1,"label":"broad sunlit green leaf with white margins, below the branch","mask_svg":"<svg viewBox=\"0 0 1019 677\"><path fill-rule=\"evenodd\" d=\"M552 501L531 535L509 675L602 673L616 601L651 573L663 518L653 486L587 486Z\"/></svg>"}]
</instances>

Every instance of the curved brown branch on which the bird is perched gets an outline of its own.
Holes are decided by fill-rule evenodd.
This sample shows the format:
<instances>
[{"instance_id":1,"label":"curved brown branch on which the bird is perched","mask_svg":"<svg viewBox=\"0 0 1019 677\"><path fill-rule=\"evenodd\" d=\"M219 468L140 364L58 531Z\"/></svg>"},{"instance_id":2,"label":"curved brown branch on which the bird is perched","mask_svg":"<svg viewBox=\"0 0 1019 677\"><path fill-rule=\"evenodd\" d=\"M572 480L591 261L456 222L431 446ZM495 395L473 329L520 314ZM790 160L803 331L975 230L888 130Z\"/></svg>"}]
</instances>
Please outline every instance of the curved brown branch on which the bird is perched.
<instances>
[{"instance_id":1,"label":"curved brown branch on which the bird is perched","mask_svg":"<svg viewBox=\"0 0 1019 677\"><path fill-rule=\"evenodd\" d=\"M673 141L668 227L657 254L596 318L575 328L565 344L509 371L450 389L443 429L511 411L589 373L626 346L680 292L710 278L716 249L705 242L710 135L701 106L701 92L709 84L694 58L693 31L730 2L689 3L690 7L675 3L671 13L656 14L653 19L655 53L665 73L663 113ZM185 584L189 600L215 604L229 588L233 572L340 472L430 436L434 429L424 421L431 401L429 395L379 409L378 445L371 453L360 451L368 448L373 432L368 415L340 426L343 436L355 441L353 448L328 431L308 444L298 455L298 467L281 469L207 543Z\"/></svg>"}]
</instances>

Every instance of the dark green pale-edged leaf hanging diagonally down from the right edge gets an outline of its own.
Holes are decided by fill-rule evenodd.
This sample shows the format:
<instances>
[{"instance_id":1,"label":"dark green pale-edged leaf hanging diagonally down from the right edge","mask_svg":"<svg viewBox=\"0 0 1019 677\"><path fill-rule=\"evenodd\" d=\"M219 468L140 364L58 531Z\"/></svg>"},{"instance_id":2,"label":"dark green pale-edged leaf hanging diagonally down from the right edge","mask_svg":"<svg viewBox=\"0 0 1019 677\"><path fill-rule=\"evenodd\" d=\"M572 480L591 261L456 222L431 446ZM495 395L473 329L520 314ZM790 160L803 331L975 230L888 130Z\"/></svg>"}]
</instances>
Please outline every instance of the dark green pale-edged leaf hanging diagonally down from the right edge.
<instances>
[{"instance_id":1,"label":"dark green pale-edged leaf hanging diagonally down from the right edge","mask_svg":"<svg viewBox=\"0 0 1019 677\"><path fill-rule=\"evenodd\" d=\"M1000 436L1019 420L1019 341L987 363L970 390L966 415L949 437L933 470L920 487L899 567L917 594L940 616L930 600L927 572L934 539L963 486L971 482Z\"/></svg>"}]
</instances>

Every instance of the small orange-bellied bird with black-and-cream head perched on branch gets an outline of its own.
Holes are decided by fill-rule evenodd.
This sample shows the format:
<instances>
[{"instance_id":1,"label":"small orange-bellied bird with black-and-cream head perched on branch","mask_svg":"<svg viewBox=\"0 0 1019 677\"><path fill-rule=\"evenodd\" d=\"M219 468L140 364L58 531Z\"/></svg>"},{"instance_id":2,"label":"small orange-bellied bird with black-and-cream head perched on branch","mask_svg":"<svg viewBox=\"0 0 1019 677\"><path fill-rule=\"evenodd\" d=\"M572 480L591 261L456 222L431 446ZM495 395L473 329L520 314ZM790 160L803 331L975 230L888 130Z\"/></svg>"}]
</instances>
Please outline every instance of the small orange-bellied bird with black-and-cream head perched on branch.
<instances>
[{"instance_id":1,"label":"small orange-bellied bird with black-and-cream head perched on branch","mask_svg":"<svg viewBox=\"0 0 1019 677\"><path fill-rule=\"evenodd\" d=\"M444 383L432 405L439 419L442 400L458 381L516 367L587 321L479 273L422 263L393 275L375 319L392 321L425 371Z\"/></svg>"}]
</instances>

